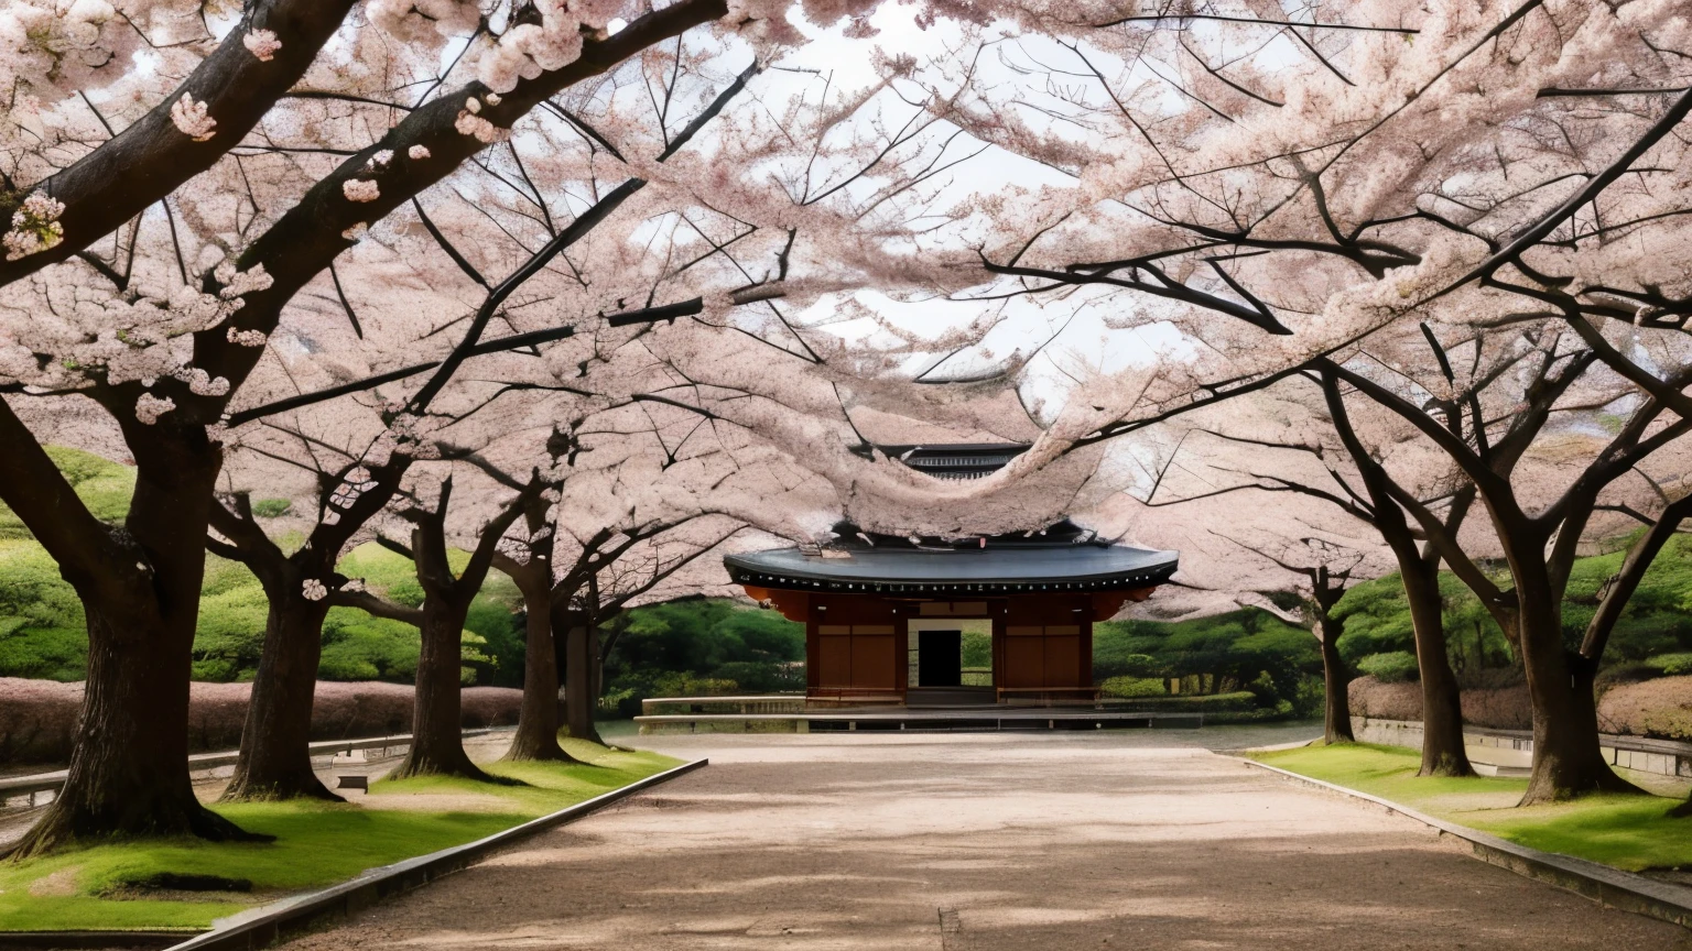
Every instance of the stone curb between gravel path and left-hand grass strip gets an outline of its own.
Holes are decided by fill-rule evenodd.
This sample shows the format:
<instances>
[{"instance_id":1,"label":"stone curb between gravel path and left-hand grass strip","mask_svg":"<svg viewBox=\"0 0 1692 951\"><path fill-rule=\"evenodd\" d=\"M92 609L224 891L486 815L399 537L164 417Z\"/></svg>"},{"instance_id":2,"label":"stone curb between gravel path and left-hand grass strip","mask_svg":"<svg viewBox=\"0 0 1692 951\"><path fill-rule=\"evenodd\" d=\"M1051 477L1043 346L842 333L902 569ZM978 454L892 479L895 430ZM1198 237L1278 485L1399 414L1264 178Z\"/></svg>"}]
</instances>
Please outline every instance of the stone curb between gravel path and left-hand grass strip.
<instances>
[{"instance_id":1,"label":"stone curb between gravel path and left-hand grass strip","mask_svg":"<svg viewBox=\"0 0 1692 951\"><path fill-rule=\"evenodd\" d=\"M283 899L281 902L230 915L212 931L190 937L181 944L173 944L168 951L249 951L269 948L284 937L293 937L311 929L325 917L350 915L381 902L382 899L428 885L437 878L452 875L453 871L469 866L494 849L533 836L535 833L543 833L555 826L563 826L587 817L606 805L690 773L709 761L711 760L694 760L690 763L682 763L680 767L653 773L643 780L636 780L621 789L596 795L585 802L577 802L575 805L560 809L548 816L530 819L521 826L494 833L484 839L440 849L430 855L420 855L416 858L396 861L394 865L371 868L357 878L342 882L340 885L330 885L320 892L294 895L291 899Z\"/></svg>"}]
</instances>

